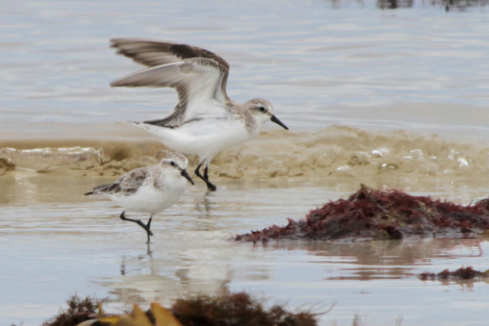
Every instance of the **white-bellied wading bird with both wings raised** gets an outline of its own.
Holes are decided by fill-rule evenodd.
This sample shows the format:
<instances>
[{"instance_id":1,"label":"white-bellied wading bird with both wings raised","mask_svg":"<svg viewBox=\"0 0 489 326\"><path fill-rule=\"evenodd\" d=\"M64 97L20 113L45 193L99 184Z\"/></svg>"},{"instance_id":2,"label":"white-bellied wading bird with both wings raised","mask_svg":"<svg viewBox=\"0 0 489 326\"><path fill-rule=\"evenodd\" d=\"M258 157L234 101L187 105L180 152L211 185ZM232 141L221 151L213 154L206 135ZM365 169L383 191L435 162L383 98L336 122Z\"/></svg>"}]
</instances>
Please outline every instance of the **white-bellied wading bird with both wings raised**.
<instances>
[{"instance_id":1,"label":"white-bellied wading bird with both wings raised","mask_svg":"<svg viewBox=\"0 0 489 326\"><path fill-rule=\"evenodd\" d=\"M150 68L111 83L112 87L172 87L178 103L165 118L136 123L168 148L199 156L195 174L210 191L208 166L221 150L255 137L271 120L285 129L270 102L261 98L238 104L226 94L229 64L202 48L144 39L113 39L118 53ZM204 175L200 168L204 165Z\"/></svg>"}]
</instances>

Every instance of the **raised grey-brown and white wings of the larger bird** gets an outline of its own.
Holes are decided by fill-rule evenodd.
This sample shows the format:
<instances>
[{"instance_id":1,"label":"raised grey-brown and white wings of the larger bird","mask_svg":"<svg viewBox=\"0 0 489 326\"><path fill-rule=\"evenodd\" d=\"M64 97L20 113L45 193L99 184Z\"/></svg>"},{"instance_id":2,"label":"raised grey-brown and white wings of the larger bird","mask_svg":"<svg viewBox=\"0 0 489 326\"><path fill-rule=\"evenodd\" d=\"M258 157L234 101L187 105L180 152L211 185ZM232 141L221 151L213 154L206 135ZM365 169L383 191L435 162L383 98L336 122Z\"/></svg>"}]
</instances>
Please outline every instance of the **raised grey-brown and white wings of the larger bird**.
<instances>
[{"instance_id":1,"label":"raised grey-brown and white wings of the larger bird","mask_svg":"<svg viewBox=\"0 0 489 326\"><path fill-rule=\"evenodd\" d=\"M126 87L172 87L178 103L163 119L147 121L161 126L178 126L203 114L220 114L232 101L226 94L229 64L200 47L143 39L113 39L118 53L149 68L111 83ZM220 103L220 105L216 105Z\"/></svg>"}]
</instances>

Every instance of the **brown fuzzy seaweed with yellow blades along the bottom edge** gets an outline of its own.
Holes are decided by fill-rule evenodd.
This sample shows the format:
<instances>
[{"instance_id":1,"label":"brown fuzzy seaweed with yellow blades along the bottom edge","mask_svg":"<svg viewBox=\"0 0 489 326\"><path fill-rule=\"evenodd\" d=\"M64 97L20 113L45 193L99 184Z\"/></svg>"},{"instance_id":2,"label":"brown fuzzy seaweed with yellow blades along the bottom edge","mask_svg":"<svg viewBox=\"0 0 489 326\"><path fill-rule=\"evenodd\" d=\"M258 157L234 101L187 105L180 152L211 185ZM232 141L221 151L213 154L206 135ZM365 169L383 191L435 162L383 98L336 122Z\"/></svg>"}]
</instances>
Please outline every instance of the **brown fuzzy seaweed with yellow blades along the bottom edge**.
<instances>
[{"instance_id":1,"label":"brown fuzzy seaweed with yellow blades along the bottom edge","mask_svg":"<svg viewBox=\"0 0 489 326\"><path fill-rule=\"evenodd\" d=\"M42 326L316 326L317 314L308 310L287 311L275 305L267 309L265 301L246 292L196 294L179 298L170 309L157 303L144 312L134 305L131 313L106 315L101 302L94 298L68 300L69 308L44 322ZM95 309L98 307L98 313Z\"/></svg>"}]
</instances>

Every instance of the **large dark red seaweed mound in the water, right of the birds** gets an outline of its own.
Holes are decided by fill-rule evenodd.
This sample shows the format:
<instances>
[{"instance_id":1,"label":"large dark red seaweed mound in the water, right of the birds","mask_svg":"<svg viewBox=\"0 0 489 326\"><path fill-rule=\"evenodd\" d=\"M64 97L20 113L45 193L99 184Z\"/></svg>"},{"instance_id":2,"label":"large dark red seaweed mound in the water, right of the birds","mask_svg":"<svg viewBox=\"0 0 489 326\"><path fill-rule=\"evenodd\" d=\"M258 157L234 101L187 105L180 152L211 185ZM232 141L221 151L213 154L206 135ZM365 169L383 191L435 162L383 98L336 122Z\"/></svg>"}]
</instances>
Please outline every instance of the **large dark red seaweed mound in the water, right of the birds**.
<instances>
[{"instance_id":1,"label":"large dark red seaweed mound in the water, right of the birds","mask_svg":"<svg viewBox=\"0 0 489 326\"><path fill-rule=\"evenodd\" d=\"M406 237L467 238L489 229L489 199L457 205L397 190L362 185L348 199L331 201L286 226L236 235L236 241L269 239L365 241Z\"/></svg>"}]
</instances>

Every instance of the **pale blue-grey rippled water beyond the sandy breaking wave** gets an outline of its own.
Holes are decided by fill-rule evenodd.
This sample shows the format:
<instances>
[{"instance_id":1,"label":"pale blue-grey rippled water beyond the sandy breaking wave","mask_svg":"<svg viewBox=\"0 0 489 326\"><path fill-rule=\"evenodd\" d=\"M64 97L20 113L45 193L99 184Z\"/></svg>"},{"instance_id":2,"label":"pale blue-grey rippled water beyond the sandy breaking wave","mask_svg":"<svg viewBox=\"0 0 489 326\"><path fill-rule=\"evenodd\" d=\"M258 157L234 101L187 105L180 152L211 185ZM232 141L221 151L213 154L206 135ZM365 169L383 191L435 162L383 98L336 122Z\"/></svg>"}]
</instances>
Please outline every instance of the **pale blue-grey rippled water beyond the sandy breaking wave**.
<instances>
[{"instance_id":1,"label":"pale blue-grey rippled water beyond the sandy breaking wave","mask_svg":"<svg viewBox=\"0 0 489 326\"><path fill-rule=\"evenodd\" d=\"M108 86L142 68L108 48L110 38L130 36L218 53L231 64L231 98L269 99L292 130L338 123L485 137L486 7L447 12L443 3L421 1L378 7L374 1L4 1L1 135L87 134L169 112L176 100L171 89ZM85 126L74 131L72 124Z\"/></svg>"}]
</instances>

